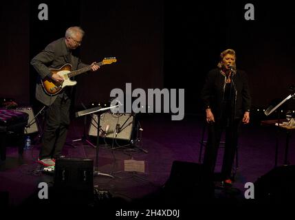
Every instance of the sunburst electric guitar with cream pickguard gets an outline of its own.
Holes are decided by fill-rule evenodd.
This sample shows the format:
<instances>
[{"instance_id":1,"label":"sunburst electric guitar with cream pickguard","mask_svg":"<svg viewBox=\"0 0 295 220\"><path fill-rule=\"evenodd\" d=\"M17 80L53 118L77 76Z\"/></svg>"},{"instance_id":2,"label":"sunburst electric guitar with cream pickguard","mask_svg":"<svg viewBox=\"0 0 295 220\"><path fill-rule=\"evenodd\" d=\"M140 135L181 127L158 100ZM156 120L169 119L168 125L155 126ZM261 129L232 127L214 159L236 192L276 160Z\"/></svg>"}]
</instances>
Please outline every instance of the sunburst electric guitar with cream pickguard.
<instances>
[{"instance_id":1,"label":"sunburst electric guitar with cream pickguard","mask_svg":"<svg viewBox=\"0 0 295 220\"><path fill-rule=\"evenodd\" d=\"M116 63L117 59L115 57L105 58L99 63L95 63L94 65L102 66L106 64ZM93 65L89 65L87 67L83 67L81 69L77 69L72 71L72 65L66 63L59 69L50 69L52 74L58 74L59 76L63 77L63 83L56 83L49 77L45 77L42 80L42 86L45 91L50 96L54 96L58 94L63 88L65 87L72 87L77 84L76 81L70 80L69 78L73 76L77 76L79 74L83 74L91 69Z\"/></svg>"}]
</instances>

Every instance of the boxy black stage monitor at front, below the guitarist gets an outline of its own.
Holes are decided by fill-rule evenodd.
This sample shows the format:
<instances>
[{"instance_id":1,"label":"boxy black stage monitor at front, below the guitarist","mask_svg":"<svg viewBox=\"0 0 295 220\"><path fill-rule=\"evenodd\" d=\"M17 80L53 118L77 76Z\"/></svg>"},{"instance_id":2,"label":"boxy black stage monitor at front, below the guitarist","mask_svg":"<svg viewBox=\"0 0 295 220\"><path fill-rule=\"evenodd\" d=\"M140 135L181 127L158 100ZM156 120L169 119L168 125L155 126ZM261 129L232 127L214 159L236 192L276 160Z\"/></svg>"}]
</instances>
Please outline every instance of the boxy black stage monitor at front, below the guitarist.
<instances>
[{"instance_id":1,"label":"boxy black stage monitor at front, below the guitarist","mask_svg":"<svg viewBox=\"0 0 295 220\"><path fill-rule=\"evenodd\" d=\"M58 191L93 193L93 176L93 159L58 158L54 169L54 188Z\"/></svg>"}]
</instances>

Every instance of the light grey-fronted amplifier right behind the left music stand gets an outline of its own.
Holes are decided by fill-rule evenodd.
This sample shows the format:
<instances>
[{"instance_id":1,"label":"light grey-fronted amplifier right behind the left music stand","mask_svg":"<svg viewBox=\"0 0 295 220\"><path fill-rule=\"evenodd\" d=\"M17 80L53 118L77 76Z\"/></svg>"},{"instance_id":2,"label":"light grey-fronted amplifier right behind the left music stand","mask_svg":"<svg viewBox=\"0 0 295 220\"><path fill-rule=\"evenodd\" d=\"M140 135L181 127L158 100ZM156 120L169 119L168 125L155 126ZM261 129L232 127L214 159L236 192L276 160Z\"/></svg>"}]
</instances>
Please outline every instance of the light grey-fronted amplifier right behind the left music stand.
<instances>
[{"instance_id":1,"label":"light grey-fronted amplifier right behind the left music stand","mask_svg":"<svg viewBox=\"0 0 295 220\"><path fill-rule=\"evenodd\" d=\"M97 136L98 115L91 115L88 134ZM100 137L116 138L118 140L131 140L134 118L131 113L111 113L107 111L100 115ZM120 128L116 135L116 128Z\"/></svg>"}]
</instances>

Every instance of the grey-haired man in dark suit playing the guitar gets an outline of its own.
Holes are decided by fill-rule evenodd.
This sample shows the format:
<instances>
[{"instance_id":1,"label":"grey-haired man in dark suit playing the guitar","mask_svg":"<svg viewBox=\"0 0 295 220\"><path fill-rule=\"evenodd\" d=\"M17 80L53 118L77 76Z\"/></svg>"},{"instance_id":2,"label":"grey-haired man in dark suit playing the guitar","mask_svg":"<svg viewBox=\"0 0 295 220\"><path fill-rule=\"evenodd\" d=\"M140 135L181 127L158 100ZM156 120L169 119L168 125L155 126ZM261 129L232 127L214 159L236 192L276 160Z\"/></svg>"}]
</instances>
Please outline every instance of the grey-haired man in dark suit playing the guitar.
<instances>
[{"instance_id":1,"label":"grey-haired man in dark suit playing the guitar","mask_svg":"<svg viewBox=\"0 0 295 220\"><path fill-rule=\"evenodd\" d=\"M48 107L38 161L44 166L54 166L55 159L61 156L67 137L71 103L70 91L72 89L71 87L64 88L63 83L67 80L65 74L69 75L70 71L81 68L96 71L100 67L96 63L86 65L74 54L74 50L80 46L84 34L85 32L80 27L68 28L65 37L47 45L31 61L40 76L36 85L36 99ZM65 74L52 70L61 68L66 64L70 69L63 69ZM48 87L48 91L52 91L51 93L46 91L45 85ZM50 85L54 85L54 87L50 87Z\"/></svg>"}]
</instances>

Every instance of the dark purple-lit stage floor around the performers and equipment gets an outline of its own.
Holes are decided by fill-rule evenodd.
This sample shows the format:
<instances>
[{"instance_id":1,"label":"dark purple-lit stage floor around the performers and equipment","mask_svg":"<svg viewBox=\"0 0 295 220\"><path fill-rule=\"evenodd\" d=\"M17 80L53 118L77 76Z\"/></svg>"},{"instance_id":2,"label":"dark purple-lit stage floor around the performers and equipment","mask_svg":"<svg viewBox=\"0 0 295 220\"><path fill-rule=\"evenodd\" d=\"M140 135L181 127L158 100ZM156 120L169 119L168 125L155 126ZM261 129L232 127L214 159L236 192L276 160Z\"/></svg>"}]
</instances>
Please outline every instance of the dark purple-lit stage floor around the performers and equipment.
<instances>
[{"instance_id":1,"label":"dark purple-lit stage floor around the performers and equipment","mask_svg":"<svg viewBox=\"0 0 295 220\"><path fill-rule=\"evenodd\" d=\"M127 146L117 148L117 144L100 140L98 151L98 170L111 177L94 177L94 186L98 192L108 192L116 202L132 203L133 201L157 202L168 177L171 175L173 162L199 163L199 149L203 120L199 115L186 115L182 121L171 121L170 115L142 115L138 118L143 129L137 148ZM87 125L87 129L89 126ZM74 118L67 135L63 155L75 158L91 158L96 163L96 148L81 142L72 142L83 136L83 119ZM278 166L283 165L285 134L279 134ZM96 145L94 137L89 141ZM239 138L239 168L232 190L215 188L217 199L234 199L243 201L245 183L254 183L259 177L274 168L276 130L272 127L247 125L241 126ZM1 164L0 192L2 200L8 199L9 206L25 206L27 203L38 203L36 192L38 184L46 182L50 186L54 176L42 172L42 166L36 163L40 144L25 150L19 158L17 146L8 146L7 159ZM289 143L289 163L295 163L294 140ZM219 151L216 173L221 169L222 148ZM184 170L187 174L183 186L190 187L197 170ZM176 188L185 192L185 188ZM194 194L183 195L187 201L194 201ZM155 199L155 200L153 200ZM44 201L42 201L44 202ZM182 201L180 201L181 203Z\"/></svg>"}]
</instances>

